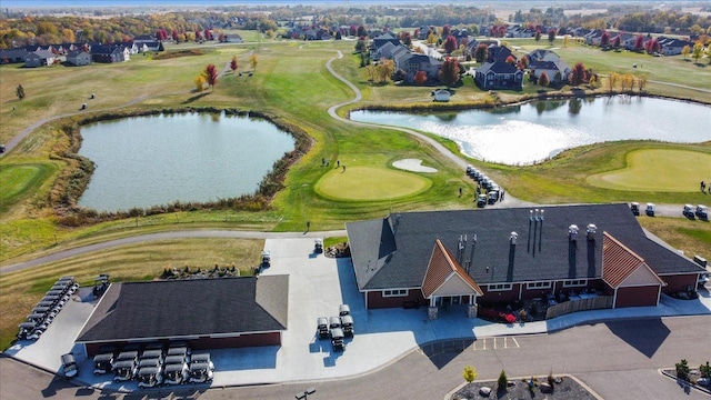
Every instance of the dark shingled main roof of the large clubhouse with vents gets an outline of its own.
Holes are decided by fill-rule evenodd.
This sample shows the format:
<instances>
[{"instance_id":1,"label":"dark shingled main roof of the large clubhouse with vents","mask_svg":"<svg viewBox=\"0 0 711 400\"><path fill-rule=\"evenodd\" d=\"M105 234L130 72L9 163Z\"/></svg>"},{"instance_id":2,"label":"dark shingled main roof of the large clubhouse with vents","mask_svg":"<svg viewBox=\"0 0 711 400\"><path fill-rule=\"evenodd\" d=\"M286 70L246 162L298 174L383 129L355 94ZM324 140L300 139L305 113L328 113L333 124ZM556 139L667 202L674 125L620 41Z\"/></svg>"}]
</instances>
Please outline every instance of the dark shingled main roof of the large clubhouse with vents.
<instances>
[{"instance_id":1,"label":"dark shingled main roof of the large clubhouse with vents","mask_svg":"<svg viewBox=\"0 0 711 400\"><path fill-rule=\"evenodd\" d=\"M457 254L464 234L469 242L462 266L471 257L471 238L477 234L470 274L479 284L601 278L603 232L643 257L658 274L702 272L693 261L648 238L624 203L543 209L544 220L539 222L530 221L531 208L501 208L403 212L348 223L358 288L419 288L435 239ZM589 223L598 228L597 240L590 242L585 238ZM580 228L577 244L568 239L571 224ZM517 246L510 246L511 232L518 233Z\"/></svg>"}]
</instances>

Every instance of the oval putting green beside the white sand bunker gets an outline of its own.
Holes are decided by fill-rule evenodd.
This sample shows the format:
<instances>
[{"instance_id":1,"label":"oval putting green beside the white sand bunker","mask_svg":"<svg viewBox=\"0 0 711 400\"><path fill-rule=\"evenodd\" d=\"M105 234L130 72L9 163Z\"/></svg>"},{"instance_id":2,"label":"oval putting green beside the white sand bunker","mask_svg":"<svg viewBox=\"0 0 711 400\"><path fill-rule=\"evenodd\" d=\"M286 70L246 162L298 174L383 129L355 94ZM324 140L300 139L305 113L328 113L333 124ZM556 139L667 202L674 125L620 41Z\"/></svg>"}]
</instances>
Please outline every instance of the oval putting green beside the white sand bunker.
<instances>
[{"instance_id":1,"label":"oval putting green beside the white sand bunker","mask_svg":"<svg viewBox=\"0 0 711 400\"><path fill-rule=\"evenodd\" d=\"M316 183L316 192L334 200L388 200L422 192L432 181L414 173L374 167L333 169Z\"/></svg>"}]
</instances>

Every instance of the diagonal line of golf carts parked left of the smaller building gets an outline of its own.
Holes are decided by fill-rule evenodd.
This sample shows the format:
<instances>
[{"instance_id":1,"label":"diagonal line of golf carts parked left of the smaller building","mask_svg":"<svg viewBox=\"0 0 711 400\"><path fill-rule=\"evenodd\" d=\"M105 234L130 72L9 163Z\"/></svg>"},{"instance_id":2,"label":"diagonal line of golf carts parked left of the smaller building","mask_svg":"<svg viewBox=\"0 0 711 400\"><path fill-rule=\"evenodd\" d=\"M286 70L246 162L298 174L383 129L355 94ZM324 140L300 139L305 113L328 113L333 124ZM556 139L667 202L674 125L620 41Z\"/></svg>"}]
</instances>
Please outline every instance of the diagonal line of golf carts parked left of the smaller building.
<instances>
[{"instance_id":1,"label":"diagonal line of golf carts parked left of the smaller building","mask_svg":"<svg viewBox=\"0 0 711 400\"><path fill-rule=\"evenodd\" d=\"M77 289L79 289L79 284L74 281L74 277L62 277L54 282L52 288L44 293L42 300L32 309L32 312L27 316L27 321L20 323L18 339L39 339Z\"/></svg>"}]
</instances>

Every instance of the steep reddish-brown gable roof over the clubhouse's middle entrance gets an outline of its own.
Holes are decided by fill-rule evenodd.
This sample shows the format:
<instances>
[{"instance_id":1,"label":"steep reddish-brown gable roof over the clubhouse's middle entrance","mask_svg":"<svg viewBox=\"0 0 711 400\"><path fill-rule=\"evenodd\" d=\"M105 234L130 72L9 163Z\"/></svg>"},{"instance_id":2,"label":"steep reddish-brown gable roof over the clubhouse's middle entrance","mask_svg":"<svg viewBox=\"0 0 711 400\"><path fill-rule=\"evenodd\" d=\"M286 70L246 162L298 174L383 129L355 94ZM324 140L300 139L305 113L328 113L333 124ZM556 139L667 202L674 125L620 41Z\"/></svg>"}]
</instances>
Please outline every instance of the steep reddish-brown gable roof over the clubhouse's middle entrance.
<instances>
[{"instance_id":1,"label":"steep reddish-brown gable roof over the clubhouse's middle entrance","mask_svg":"<svg viewBox=\"0 0 711 400\"><path fill-rule=\"evenodd\" d=\"M422 293L425 299L429 299L442 284L444 284L452 277L458 277L471 287L473 292L482 296L483 291L479 288L479 284L464 271L464 269L454 260L452 253L444 248L444 244L437 239L434 241L434 249L430 257L430 263L422 281Z\"/></svg>"}]
</instances>

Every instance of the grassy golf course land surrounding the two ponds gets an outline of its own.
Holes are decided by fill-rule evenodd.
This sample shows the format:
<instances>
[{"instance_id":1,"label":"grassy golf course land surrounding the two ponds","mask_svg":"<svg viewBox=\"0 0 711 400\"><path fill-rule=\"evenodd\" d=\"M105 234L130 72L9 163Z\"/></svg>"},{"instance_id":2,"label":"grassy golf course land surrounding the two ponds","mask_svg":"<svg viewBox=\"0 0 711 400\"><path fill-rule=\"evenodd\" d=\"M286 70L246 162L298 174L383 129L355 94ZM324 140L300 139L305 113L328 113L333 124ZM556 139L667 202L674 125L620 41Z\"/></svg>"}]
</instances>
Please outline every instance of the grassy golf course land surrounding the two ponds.
<instances>
[{"instance_id":1,"label":"grassy golf course land surrounding the two ponds","mask_svg":"<svg viewBox=\"0 0 711 400\"><path fill-rule=\"evenodd\" d=\"M365 71L359 68L360 57L352 54L352 40L254 41L253 31L240 34L246 43L166 46L167 52L199 47L200 56L153 59L151 54L136 54L128 62L82 68L1 66L0 142L24 138L0 158L0 263L11 266L146 233L207 229L302 232L307 222L311 231L331 231L342 230L349 221L393 211L474 207L475 184L464 174L461 162L454 162L428 140L402 129L332 118L328 110L349 103L356 93L327 69L327 62L331 61L336 74L351 82L362 96L339 108L337 113L341 117L369 107L427 110L433 107L432 87L369 82ZM518 51L534 48L532 41L513 43L521 48ZM339 51L342 58L338 58ZM711 103L708 68L681 57L635 53L624 58L624 53L602 53L577 43L555 51L570 64L579 60L594 64L602 77L624 72L633 62L643 63L641 71L634 71L649 74L641 94ZM234 56L238 71L226 68L212 88L196 92L193 80L206 66L222 70ZM640 57L643 60L637 61ZM238 73L248 71L252 73ZM24 99L16 97L19 84L24 88ZM588 96L609 94L604 82L583 90ZM540 87L527 81L521 92L500 92L493 98L468 77L450 103L437 107L459 110L515 102L539 97L539 91ZM90 99L91 93L96 98ZM571 88L547 89L545 94L570 96ZM86 110L81 110L82 103L88 104ZM266 200L257 196L253 201L239 202L239 207L186 209L157 204L160 210L130 216L127 211L121 218L76 209L77 196L91 176L77 157L81 137L71 133L73 129L87 121L153 111L214 113L224 109L259 112L279 127L309 138L307 149L289 161L280 180L262 184L278 188L274 196ZM462 162L485 171L505 189L507 196L530 203L655 202L679 204L679 214L684 203L711 203L711 194L699 190L701 180L711 181L711 137L702 143L597 143L567 150L543 163L514 167L467 159L454 142L418 133L457 154ZM393 166L403 159L421 160L422 166L435 172ZM710 223L643 217L640 222L685 254L711 258ZM27 310L59 276L74 276L79 283L92 284L98 273L109 273L113 281L149 280L168 268L236 266L242 273L252 273L262 243L248 239L169 239L1 273L0 308L4 312L0 314L0 347L9 346Z\"/></svg>"}]
</instances>

